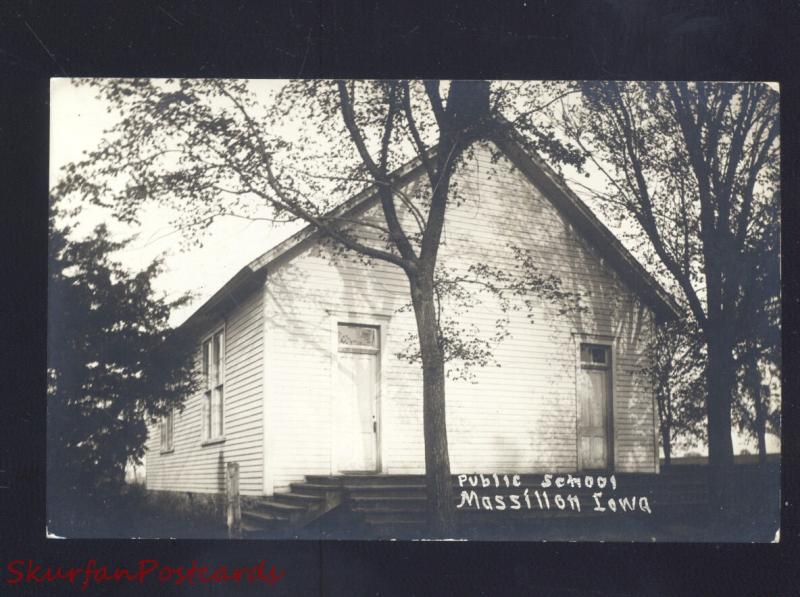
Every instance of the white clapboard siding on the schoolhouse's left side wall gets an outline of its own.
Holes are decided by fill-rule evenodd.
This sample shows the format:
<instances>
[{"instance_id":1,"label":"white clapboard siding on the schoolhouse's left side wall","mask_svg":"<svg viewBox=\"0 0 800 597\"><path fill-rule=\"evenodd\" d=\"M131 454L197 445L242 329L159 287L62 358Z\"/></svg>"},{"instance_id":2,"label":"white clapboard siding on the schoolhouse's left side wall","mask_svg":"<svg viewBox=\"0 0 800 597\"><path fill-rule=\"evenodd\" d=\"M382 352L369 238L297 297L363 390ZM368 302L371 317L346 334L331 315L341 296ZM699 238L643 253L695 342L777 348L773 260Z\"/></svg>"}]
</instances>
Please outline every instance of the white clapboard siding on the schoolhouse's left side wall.
<instances>
[{"instance_id":1,"label":"white clapboard siding on the schoolhouse's left side wall","mask_svg":"<svg viewBox=\"0 0 800 597\"><path fill-rule=\"evenodd\" d=\"M262 493L263 474L263 291L233 308L206 333L225 327L225 441L201 445L202 393L175 415L174 451L161 454L157 426L150 428L148 489L216 493L225 489L225 463L239 463L243 494ZM201 370L198 341L197 371Z\"/></svg>"}]
</instances>

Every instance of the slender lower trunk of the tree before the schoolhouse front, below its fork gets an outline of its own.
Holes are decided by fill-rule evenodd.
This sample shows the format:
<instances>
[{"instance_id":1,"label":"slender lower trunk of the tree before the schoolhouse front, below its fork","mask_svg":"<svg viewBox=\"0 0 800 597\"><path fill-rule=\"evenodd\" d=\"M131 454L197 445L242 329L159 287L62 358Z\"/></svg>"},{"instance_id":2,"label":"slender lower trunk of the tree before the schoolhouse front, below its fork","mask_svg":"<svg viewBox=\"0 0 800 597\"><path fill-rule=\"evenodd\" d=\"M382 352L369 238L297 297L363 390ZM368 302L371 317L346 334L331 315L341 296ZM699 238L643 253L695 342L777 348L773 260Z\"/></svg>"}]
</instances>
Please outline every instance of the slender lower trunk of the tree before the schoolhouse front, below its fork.
<instances>
[{"instance_id":1,"label":"slender lower trunk of the tree before the schoolhouse front, below its fork","mask_svg":"<svg viewBox=\"0 0 800 597\"><path fill-rule=\"evenodd\" d=\"M447 447L444 354L439 345L432 280L411 282L422 356L422 411L428 520L436 536L452 537L455 503Z\"/></svg>"}]
</instances>

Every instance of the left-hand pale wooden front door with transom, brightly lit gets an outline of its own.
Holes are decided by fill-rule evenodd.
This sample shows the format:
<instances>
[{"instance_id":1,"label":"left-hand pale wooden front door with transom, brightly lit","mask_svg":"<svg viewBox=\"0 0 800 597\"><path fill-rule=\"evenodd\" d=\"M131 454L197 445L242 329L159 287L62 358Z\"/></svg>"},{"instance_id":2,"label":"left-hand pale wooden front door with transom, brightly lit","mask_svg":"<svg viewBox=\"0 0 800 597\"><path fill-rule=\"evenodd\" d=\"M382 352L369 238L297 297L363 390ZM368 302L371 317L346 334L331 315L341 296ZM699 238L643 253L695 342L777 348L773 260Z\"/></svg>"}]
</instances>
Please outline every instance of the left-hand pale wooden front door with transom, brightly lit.
<instances>
[{"instance_id":1,"label":"left-hand pale wooden front door with transom, brightly lit","mask_svg":"<svg viewBox=\"0 0 800 597\"><path fill-rule=\"evenodd\" d=\"M339 324L336 390L336 468L378 469L378 329Z\"/></svg>"}]
</instances>

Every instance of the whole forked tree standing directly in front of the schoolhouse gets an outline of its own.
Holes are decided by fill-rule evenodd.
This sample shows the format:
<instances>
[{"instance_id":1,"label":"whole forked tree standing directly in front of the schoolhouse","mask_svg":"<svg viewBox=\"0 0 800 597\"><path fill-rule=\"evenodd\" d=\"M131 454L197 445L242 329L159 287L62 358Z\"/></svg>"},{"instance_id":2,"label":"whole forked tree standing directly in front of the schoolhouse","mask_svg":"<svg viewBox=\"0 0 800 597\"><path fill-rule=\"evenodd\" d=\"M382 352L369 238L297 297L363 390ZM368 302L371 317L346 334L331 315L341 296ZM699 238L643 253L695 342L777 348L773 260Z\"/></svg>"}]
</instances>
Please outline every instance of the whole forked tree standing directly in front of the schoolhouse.
<instances>
[{"instance_id":1,"label":"whole forked tree standing directly in front of the schoolhouse","mask_svg":"<svg viewBox=\"0 0 800 597\"><path fill-rule=\"evenodd\" d=\"M465 340L452 318L441 317L440 298L461 297L456 289L472 284L503 294L501 301L526 294L574 302L557 279L526 267L524 251L515 279L485 264L456 279L438 260L445 214L459 201L454 172L474 141L508 132L498 116L516 96L507 86L492 92L485 81L294 81L271 98L259 98L244 81L88 83L120 121L97 151L67 169L61 192L112 207L131 222L146 200L175 206L178 226L193 241L224 216L301 221L334 256L402 269L418 346L405 356L420 363L423 378L430 528L450 534L446 363L482 362L486 346ZM529 106L519 120L529 121L536 109ZM527 132L531 146L579 161L546 131ZM424 174L409 190L398 168L412 156ZM365 187L377 190L379 217L337 207Z\"/></svg>"}]
</instances>

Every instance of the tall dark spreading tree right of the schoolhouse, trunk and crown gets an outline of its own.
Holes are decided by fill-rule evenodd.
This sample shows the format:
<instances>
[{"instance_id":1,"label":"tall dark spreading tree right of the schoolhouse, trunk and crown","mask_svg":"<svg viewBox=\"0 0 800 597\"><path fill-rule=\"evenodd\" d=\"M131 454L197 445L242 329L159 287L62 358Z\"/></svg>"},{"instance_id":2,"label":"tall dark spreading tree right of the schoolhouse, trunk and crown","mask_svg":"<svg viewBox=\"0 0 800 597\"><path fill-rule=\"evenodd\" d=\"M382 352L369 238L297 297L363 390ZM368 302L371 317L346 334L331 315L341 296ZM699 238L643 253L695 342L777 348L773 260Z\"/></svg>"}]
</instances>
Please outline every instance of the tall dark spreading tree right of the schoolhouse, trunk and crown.
<instances>
[{"instance_id":1,"label":"tall dark spreading tree right of the schoolhouse, trunk and crown","mask_svg":"<svg viewBox=\"0 0 800 597\"><path fill-rule=\"evenodd\" d=\"M709 457L723 501L733 462L737 330L752 316L748 247L777 227L778 94L758 83L585 83L564 130L681 291L706 344ZM767 291L777 295L778 288Z\"/></svg>"}]
</instances>

